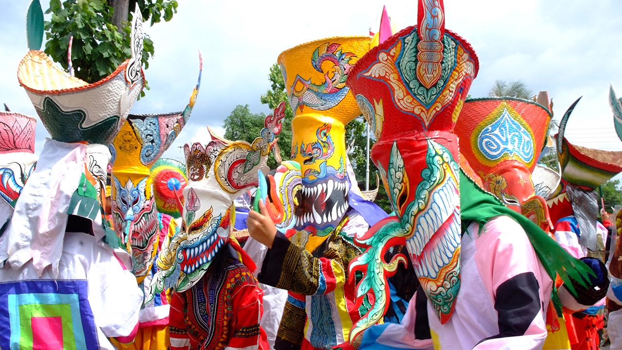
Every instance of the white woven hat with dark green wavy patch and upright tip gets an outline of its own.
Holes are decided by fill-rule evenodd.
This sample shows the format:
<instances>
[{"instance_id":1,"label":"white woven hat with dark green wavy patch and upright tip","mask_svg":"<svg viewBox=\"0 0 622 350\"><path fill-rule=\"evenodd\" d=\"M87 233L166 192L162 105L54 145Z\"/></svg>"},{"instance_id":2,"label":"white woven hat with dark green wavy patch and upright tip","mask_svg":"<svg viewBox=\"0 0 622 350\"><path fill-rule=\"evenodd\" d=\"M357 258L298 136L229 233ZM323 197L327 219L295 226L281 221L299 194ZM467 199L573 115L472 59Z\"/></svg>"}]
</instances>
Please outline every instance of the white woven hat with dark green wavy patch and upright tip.
<instances>
[{"instance_id":1,"label":"white woven hat with dark green wavy patch and upright tip","mask_svg":"<svg viewBox=\"0 0 622 350\"><path fill-rule=\"evenodd\" d=\"M54 140L109 144L144 86L142 16L134 14L130 59L108 77L87 83L58 68L44 52L30 50L17 69L45 128Z\"/></svg>"}]
</instances>

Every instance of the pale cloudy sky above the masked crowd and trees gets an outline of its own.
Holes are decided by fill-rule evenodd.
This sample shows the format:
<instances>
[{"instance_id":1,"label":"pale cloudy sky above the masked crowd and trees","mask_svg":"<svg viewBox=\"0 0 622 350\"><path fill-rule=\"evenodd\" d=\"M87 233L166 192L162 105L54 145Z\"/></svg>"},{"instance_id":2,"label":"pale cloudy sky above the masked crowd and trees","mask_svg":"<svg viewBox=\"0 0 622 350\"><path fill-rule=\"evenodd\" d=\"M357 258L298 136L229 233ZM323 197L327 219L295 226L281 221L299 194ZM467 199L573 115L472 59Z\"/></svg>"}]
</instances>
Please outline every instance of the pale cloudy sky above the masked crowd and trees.
<instances>
[{"instance_id":1,"label":"pale cloudy sky above the masked crowd and trees","mask_svg":"<svg viewBox=\"0 0 622 350\"><path fill-rule=\"evenodd\" d=\"M409 1L202 1L178 0L170 22L145 32L156 55L146 78L151 90L132 113L182 110L197 80L203 81L189 124L165 156L180 158L179 146L221 127L236 105L269 113L259 97L267 74L285 49L336 35L377 31L383 4L399 29L414 25L417 2ZM0 103L36 115L17 82L27 52L27 0L0 0ZM47 9L47 0L42 0ZM488 95L493 82L522 79L534 92L548 90L559 119L583 95L567 128L573 143L622 150L613 129L607 94L610 82L622 93L622 1L445 0L445 27L475 48L480 60L470 95ZM1 106L1 105L0 105ZM217 128L217 130L221 128ZM39 153L48 133L37 123Z\"/></svg>"}]
</instances>

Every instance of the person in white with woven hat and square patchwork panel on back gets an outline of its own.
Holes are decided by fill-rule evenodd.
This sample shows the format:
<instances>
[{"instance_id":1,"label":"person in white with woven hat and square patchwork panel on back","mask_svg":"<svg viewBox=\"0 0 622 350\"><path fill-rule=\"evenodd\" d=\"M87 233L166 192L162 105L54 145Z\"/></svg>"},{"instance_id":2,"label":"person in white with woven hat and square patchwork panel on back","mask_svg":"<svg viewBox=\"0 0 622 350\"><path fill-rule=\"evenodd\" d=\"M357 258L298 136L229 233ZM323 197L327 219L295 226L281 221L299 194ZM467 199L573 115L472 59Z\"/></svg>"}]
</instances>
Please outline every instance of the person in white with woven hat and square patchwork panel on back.
<instances>
[{"instance_id":1,"label":"person in white with woven hat and square patchwork panel on back","mask_svg":"<svg viewBox=\"0 0 622 350\"><path fill-rule=\"evenodd\" d=\"M132 30L132 38L142 52L142 32ZM0 348L113 349L107 337L135 333L142 293L128 270L131 257L104 223L106 144L142 90L140 59L132 54L89 84L30 50L17 77L52 139L35 169L28 164L14 173L21 183L11 182L22 189L0 237ZM21 136L3 139L29 144L29 128L15 120Z\"/></svg>"}]
</instances>

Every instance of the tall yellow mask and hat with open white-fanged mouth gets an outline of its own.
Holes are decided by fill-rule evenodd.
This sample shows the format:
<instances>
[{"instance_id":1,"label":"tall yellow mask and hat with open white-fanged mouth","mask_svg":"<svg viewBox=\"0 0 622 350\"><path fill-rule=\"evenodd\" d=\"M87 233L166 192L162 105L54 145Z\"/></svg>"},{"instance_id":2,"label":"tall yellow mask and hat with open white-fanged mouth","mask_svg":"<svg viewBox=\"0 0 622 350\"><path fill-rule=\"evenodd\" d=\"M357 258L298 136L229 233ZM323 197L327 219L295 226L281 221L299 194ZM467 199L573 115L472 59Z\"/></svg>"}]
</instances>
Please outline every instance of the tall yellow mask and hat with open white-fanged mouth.
<instances>
[{"instance_id":1,"label":"tall yellow mask and hat with open white-fanged mouth","mask_svg":"<svg viewBox=\"0 0 622 350\"><path fill-rule=\"evenodd\" d=\"M302 44L279 55L285 89L295 113L292 161L300 164L302 189L294 228L308 235L313 250L348 209L345 125L360 115L345 85L356 61L369 50L369 37L332 37Z\"/></svg>"}]
</instances>

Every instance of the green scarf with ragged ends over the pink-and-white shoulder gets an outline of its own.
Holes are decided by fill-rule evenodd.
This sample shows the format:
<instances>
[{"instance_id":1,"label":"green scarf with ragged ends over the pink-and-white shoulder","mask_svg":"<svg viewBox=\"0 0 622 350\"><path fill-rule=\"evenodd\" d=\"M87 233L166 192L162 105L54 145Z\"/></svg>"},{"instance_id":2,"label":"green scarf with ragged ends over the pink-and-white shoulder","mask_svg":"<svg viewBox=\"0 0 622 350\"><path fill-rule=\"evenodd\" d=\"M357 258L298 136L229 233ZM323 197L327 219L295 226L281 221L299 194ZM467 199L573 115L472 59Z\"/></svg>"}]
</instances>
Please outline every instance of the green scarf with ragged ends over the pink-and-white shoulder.
<instances>
[{"instance_id":1,"label":"green scarf with ragged ends over the pink-and-white shoulder","mask_svg":"<svg viewBox=\"0 0 622 350\"><path fill-rule=\"evenodd\" d=\"M562 281L564 281L566 288L575 296L577 292L570 282L571 279L587 288L588 275L594 275L591 268L572 257L554 239L549 237L544 230L527 219L527 217L509 209L497 197L483 191L460 169L460 217L462 217L463 232L471 222L477 222L480 225L481 234L481 227L491 217L498 215L507 215L521 225L527 234L527 238L529 238L529 242L536 250L542 266L544 266L544 269L549 273L549 277L553 281L555 281L555 276L559 275ZM559 303L557 293L554 294L554 302L557 304Z\"/></svg>"}]
</instances>

